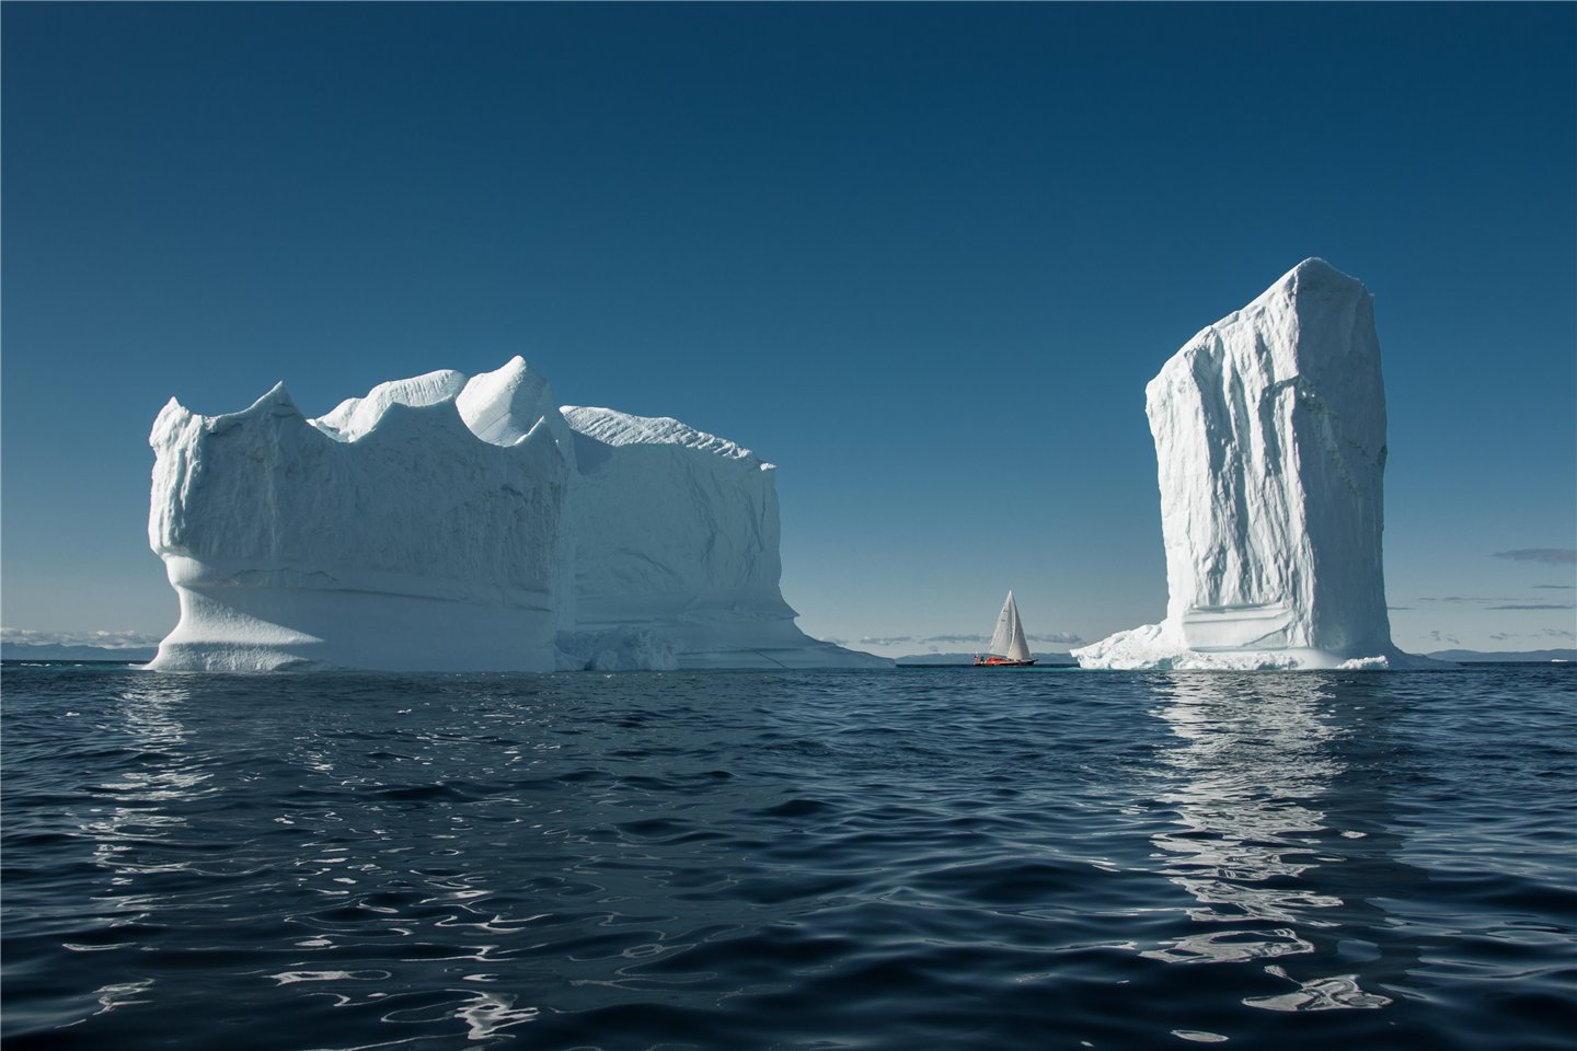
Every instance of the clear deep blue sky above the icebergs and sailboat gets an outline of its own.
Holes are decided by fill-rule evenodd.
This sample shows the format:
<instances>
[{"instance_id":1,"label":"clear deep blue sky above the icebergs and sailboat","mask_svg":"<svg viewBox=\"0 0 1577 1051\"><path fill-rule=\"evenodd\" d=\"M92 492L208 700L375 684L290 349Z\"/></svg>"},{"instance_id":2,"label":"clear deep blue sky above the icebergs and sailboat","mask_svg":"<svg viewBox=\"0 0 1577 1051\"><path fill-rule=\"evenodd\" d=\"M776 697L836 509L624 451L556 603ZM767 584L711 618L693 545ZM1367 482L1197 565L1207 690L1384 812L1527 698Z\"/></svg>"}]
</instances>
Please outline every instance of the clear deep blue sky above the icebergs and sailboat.
<instances>
[{"instance_id":1,"label":"clear deep blue sky above the icebergs and sailboat","mask_svg":"<svg viewBox=\"0 0 1577 1051\"><path fill-rule=\"evenodd\" d=\"M520 353L777 463L809 633L971 649L1012 588L1093 641L1165 611L1145 383L1320 255L1375 293L1397 643L1577 641L1574 5L0 17L13 635L173 626L170 396Z\"/></svg>"}]
</instances>

